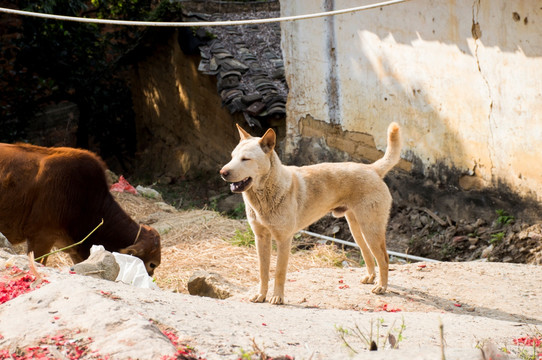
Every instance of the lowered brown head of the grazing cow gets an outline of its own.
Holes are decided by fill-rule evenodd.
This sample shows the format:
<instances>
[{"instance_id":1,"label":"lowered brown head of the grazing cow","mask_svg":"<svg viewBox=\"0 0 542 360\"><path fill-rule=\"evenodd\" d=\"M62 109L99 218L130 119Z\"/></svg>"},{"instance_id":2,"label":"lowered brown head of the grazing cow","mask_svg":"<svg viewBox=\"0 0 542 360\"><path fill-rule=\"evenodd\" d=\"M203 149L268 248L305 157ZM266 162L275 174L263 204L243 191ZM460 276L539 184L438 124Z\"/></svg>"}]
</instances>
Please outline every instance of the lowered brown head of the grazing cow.
<instances>
[{"instance_id":1,"label":"lowered brown head of the grazing cow","mask_svg":"<svg viewBox=\"0 0 542 360\"><path fill-rule=\"evenodd\" d=\"M160 265L162 257L160 234L150 226L141 225L140 233L134 245L121 249L119 252L140 258L145 264L147 273L152 276L154 269Z\"/></svg>"}]
</instances>

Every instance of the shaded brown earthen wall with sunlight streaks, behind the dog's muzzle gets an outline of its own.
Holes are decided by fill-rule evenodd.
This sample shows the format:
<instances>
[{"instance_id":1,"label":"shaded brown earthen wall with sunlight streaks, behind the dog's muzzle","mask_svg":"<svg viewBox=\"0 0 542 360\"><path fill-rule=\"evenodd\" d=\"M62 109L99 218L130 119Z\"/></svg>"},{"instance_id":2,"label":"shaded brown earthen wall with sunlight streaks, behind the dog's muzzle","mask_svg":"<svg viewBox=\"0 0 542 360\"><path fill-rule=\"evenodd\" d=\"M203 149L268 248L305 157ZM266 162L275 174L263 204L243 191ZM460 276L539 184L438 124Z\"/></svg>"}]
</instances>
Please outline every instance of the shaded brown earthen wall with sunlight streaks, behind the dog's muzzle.
<instances>
[{"instance_id":1,"label":"shaded brown earthen wall with sunlight streaks, behind the dog's muzzle","mask_svg":"<svg viewBox=\"0 0 542 360\"><path fill-rule=\"evenodd\" d=\"M132 73L139 175L165 183L218 174L238 142L236 119L221 107L216 79L198 73L199 56L185 55L177 36L149 36L152 46L140 46Z\"/></svg>"}]
</instances>

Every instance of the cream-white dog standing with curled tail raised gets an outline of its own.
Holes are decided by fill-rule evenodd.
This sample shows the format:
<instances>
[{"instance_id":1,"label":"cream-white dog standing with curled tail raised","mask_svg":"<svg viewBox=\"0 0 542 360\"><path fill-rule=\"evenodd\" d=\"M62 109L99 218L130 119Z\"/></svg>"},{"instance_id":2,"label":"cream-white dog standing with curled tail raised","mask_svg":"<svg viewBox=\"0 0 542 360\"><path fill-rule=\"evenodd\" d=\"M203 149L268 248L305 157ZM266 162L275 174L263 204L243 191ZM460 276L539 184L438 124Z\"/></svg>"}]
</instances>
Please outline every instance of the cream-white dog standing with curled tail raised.
<instances>
[{"instance_id":1,"label":"cream-white dog standing with curled tail raised","mask_svg":"<svg viewBox=\"0 0 542 360\"><path fill-rule=\"evenodd\" d=\"M382 178L400 159L399 125L389 125L386 153L372 164L345 162L303 167L281 163L274 151L276 135L272 129L259 138L237 127L241 141L220 174L231 183L232 192L243 194L247 218L256 236L260 290L251 301L264 302L267 296L274 238L278 254L275 288L269 302L284 303L292 237L328 212L335 217L346 216L367 265L368 274L362 283L374 283L376 258L380 277L372 291L383 294L388 286L386 226L392 199Z\"/></svg>"}]
</instances>

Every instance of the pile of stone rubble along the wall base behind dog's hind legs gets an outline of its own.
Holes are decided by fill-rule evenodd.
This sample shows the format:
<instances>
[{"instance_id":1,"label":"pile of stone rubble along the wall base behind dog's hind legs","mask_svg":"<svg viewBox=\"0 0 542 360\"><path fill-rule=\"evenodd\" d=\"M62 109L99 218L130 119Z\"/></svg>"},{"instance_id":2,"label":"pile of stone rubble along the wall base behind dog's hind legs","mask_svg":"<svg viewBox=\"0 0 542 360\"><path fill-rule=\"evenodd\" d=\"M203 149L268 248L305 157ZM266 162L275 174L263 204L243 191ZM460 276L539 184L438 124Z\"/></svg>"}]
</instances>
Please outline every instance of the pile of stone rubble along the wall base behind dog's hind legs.
<instances>
[{"instance_id":1,"label":"pile of stone rubble along the wall base behind dog's hind legs","mask_svg":"<svg viewBox=\"0 0 542 360\"><path fill-rule=\"evenodd\" d=\"M310 231L354 241L344 219L325 217ZM542 264L542 224L528 224L502 211L484 219L451 219L427 208L396 207L388 249L440 261Z\"/></svg>"}]
</instances>

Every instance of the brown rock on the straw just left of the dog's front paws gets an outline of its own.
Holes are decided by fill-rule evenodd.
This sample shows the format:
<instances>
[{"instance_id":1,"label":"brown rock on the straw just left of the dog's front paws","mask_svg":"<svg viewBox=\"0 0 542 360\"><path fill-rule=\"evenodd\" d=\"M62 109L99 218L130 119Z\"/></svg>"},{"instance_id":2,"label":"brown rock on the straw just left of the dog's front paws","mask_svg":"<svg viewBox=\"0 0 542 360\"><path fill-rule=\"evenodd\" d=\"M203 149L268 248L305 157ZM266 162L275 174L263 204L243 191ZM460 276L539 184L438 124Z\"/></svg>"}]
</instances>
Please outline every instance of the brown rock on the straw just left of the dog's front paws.
<instances>
[{"instance_id":1,"label":"brown rock on the straw just left of the dog's front paws","mask_svg":"<svg viewBox=\"0 0 542 360\"><path fill-rule=\"evenodd\" d=\"M203 270L197 270L192 274L187 284L190 295L206 296L214 299L227 299L235 293L244 292L220 274L208 273Z\"/></svg>"}]
</instances>

